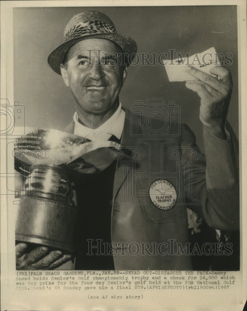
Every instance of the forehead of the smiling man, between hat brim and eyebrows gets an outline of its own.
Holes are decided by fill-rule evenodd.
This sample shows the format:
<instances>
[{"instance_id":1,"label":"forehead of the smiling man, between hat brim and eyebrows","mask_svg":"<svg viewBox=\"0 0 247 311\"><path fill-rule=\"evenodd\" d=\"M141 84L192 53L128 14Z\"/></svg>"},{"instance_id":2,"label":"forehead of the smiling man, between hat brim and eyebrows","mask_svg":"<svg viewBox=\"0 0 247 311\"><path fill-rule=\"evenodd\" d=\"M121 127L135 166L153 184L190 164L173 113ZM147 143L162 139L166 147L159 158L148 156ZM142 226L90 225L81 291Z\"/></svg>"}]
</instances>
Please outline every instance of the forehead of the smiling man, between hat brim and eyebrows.
<instances>
[{"instance_id":1,"label":"forehead of the smiling man, between hat brim and eyebrows","mask_svg":"<svg viewBox=\"0 0 247 311\"><path fill-rule=\"evenodd\" d=\"M101 53L99 53L100 50ZM90 51L90 52L89 52ZM119 45L115 42L107 40L107 39L85 39L74 44L68 53L69 58L80 56L104 56L103 53L122 53L122 50Z\"/></svg>"}]
</instances>

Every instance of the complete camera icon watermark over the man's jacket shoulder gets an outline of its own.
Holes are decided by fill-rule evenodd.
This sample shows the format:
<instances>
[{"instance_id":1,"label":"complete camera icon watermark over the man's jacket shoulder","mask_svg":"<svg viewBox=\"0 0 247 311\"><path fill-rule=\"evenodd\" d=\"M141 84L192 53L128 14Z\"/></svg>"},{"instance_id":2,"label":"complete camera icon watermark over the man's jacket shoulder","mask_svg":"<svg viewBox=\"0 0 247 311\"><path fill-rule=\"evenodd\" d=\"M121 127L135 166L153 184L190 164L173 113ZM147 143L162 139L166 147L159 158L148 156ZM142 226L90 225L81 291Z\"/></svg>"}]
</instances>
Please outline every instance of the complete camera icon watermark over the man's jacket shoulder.
<instances>
[{"instance_id":1,"label":"complete camera icon watermark over the man's jacket shoulder","mask_svg":"<svg viewBox=\"0 0 247 311\"><path fill-rule=\"evenodd\" d=\"M137 130L136 123L140 125L141 132ZM131 106L131 135L180 135L180 106L175 105L174 101L165 104L163 98L149 98L145 104L135 101Z\"/></svg>"}]
</instances>

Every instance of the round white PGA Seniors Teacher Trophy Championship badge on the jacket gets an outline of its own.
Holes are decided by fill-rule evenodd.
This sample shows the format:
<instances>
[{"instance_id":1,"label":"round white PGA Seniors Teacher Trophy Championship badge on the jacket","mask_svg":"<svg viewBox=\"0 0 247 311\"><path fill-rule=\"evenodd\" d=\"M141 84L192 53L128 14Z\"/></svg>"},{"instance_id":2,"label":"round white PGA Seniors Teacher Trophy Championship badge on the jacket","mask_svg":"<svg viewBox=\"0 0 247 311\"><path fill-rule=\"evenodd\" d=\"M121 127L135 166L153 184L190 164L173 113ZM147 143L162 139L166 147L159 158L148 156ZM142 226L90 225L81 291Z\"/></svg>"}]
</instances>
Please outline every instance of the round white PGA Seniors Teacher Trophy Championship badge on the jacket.
<instances>
[{"instance_id":1,"label":"round white PGA Seniors Teacher Trophy Championship badge on the jacket","mask_svg":"<svg viewBox=\"0 0 247 311\"><path fill-rule=\"evenodd\" d=\"M158 179L151 183L149 196L154 206L164 211L172 209L177 202L175 187L165 179Z\"/></svg>"}]
</instances>

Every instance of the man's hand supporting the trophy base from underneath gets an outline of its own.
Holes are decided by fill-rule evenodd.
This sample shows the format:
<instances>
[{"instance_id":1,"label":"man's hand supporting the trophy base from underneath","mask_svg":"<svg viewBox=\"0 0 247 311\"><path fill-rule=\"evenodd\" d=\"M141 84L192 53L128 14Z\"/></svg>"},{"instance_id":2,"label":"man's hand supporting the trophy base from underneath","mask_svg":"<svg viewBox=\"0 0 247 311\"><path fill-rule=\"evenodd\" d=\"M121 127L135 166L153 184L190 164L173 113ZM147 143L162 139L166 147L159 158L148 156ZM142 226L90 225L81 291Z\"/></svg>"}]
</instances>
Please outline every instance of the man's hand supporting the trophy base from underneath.
<instances>
[{"instance_id":1,"label":"man's hand supporting the trophy base from underneath","mask_svg":"<svg viewBox=\"0 0 247 311\"><path fill-rule=\"evenodd\" d=\"M49 251L49 248L40 246L30 252L28 244L16 245L16 269L17 270L50 270L59 267L69 261L72 255L62 255L61 251Z\"/></svg>"}]
</instances>

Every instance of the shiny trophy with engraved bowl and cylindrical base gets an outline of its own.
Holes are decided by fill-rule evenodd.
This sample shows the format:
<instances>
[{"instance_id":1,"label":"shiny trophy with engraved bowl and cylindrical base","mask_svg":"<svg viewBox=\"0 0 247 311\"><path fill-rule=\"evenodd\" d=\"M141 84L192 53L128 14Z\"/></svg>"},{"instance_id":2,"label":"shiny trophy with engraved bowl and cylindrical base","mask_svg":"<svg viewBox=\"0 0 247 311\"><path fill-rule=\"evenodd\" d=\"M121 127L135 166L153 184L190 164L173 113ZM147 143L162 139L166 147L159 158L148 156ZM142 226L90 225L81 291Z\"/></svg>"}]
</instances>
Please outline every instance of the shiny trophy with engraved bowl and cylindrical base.
<instances>
[{"instance_id":1,"label":"shiny trophy with engraved bowl and cylindrical base","mask_svg":"<svg viewBox=\"0 0 247 311\"><path fill-rule=\"evenodd\" d=\"M114 159L111 141L86 138L50 129L26 128L15 142L17 186L16 241L74 252L77 207L73 200L73 176L97 174ZM82 207L83 208L83 207Z\"/></svg>"}]
</instances>

